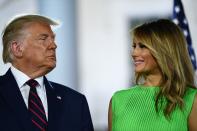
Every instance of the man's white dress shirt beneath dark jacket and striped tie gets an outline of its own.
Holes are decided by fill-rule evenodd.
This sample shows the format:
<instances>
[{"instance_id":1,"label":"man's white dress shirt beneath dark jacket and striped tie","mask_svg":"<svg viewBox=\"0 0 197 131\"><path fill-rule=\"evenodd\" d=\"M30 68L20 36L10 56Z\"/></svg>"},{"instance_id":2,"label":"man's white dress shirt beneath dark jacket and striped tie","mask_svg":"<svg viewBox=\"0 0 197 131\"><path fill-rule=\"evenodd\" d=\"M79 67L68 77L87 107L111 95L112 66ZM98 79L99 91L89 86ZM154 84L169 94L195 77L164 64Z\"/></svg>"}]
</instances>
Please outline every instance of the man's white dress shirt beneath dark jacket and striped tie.
<instances>
[{"instance_id":1,"label":"man's white dress shirt beneath dark jacket and striped tie","mask_svg":"<svg viewBox=\"0 0 197 131\"><path fill-rule=\"evenodd\" d=\"M28 108L28 98L29 98L30 86L27 85L26 82L31 78L29 78L26 74L24 74L20 70L16 69L14 66L11 66L11 71L12 71L12 74L14 75L14 78L15 78L15 80L18 84L18 87L20 89L20 92L23 96L23 100ZM36 80L39 83L38 87L36 87L36 90L37 90L38 96L40 97L42 104L44 106L46 118L48 119L47 96L46 96L46 89L45 89L45 85L44 85L43 76L38 77L34 80Z\"/></svg>"}]
</instances>

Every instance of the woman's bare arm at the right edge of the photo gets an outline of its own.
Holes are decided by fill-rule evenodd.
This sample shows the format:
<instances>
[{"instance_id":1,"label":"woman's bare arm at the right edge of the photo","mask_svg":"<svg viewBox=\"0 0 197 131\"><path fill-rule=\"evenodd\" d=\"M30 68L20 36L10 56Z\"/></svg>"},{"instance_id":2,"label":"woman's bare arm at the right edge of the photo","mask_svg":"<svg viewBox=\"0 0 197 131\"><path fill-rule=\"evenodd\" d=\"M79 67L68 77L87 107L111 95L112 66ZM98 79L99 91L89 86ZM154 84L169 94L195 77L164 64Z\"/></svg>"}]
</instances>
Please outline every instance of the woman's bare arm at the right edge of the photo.
<instances>
[{"instance_id":1,"label":"woman's bare arm at the right edge of the photo","mask_svg":"<svg viewBox=\"0 0 197 131\"><path fill-rule=\"evenodd\" d=\"M189 115L189 131L197 131L197 95L192 106L192 111Z\"/></svg>"}]
</instances>

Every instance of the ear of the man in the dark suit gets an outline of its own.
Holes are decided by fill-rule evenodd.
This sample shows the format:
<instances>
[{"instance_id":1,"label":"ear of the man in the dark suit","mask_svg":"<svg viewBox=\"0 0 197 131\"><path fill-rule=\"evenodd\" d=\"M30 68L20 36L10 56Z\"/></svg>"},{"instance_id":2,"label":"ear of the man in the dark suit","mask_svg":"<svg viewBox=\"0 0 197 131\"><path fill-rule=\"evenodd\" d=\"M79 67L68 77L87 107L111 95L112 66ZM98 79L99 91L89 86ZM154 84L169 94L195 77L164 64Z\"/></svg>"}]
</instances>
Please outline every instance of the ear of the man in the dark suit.
<instances>
[{"instance_id":1,"label":"ear of the man in the dark suit","mask_svg":"<svg viewBox=\"0 0 197 131\"><path fill-rule=\"evenodd\" d=\"M22 57L23 50L22 50L21 44L17 41L12 41L11 52L15 57Z\"/></svg>"}]
</instances>

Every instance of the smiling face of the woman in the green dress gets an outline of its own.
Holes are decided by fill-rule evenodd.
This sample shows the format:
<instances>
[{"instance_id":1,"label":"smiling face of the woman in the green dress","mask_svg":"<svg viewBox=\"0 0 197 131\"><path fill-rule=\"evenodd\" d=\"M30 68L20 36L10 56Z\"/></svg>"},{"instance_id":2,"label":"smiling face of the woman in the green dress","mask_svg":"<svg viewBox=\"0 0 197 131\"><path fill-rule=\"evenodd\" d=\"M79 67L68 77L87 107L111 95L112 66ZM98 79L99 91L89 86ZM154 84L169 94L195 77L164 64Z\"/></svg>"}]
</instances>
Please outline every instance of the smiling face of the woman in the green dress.
<instances>
[{"instance_id":1,"label":"smiling face of the woman in the green dress","mask_svg":"<svg viewBox=\"0 0 197 131\"><path fill-rule=\"evenodd\" d=\"M150 50L139 40L134 38L132 58L136 73L155 74L160 72L156 59Z\"/></svg>"}]
</instances>

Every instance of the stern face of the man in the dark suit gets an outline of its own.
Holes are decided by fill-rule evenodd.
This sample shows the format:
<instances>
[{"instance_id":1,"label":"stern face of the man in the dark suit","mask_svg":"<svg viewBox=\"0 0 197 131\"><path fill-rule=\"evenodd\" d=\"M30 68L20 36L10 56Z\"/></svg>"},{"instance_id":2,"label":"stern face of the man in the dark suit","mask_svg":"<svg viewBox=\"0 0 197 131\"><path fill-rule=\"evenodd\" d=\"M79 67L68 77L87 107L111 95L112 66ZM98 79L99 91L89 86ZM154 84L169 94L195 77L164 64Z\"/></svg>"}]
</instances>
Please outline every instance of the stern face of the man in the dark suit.
<instances>
[{"instance_id":1,"label":"stern face of the man in the dark suit","mask_svg":"<svg viewBox=\"0 0 197 131\"><path fill-rule=\"evenodd\" d=\"M29 70L42 70L45 75L56 66L55 35L50 25L31 23L24 30L21 62Z\"/></svg>"}]
</instances>

